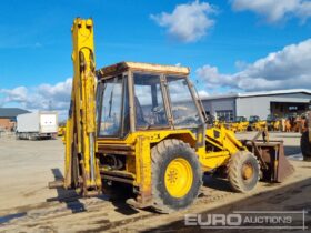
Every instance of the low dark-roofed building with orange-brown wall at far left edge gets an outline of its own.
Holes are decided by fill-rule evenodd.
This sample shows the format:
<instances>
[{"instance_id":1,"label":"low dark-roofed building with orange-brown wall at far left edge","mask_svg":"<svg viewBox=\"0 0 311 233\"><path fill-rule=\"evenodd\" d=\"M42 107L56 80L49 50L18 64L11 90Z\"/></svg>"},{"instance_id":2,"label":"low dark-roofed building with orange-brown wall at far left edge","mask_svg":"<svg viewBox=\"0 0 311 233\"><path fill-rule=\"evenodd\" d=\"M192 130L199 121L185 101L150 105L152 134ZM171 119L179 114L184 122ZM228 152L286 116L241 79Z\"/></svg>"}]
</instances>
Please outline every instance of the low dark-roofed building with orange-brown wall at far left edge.
<instances>
[{"instance_id":1,"label":"low dark-roofed building with orange-brown wall at far left edge","mask_svg":"<svg viewBox=\"0 0 311 233\"><path fill-rule=\"evenodd\" d=\"M11 131L16 126L17 116L28 112L18 108L0 108L0 131Z\"/></svg>"}]
</instances>

